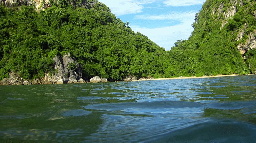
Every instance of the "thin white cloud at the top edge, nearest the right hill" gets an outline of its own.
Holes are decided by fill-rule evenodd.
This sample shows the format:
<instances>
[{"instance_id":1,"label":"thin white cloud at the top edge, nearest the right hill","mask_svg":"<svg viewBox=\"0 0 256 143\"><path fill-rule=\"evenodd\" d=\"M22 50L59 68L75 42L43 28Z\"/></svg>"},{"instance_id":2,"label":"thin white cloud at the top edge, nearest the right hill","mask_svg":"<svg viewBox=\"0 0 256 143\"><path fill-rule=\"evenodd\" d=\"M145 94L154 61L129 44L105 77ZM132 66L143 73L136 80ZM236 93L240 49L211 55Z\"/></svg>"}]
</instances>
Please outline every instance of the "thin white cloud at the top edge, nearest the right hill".
<instances>
[{"instance_id":1,"label":"thin white cloud at the top edge, nearest the right hill","mask_svg":"<svg viewBox=\"0 0 256 143\"><path fill-rule=\"evenodd\" d=\"M163 3L168 5L168 6L173 6L173 7L180 7L180 6L189 6L189 5L198 5L198 4L203 4L205 0L167 0L164 1Z\"/></svg>"}]
</instances>

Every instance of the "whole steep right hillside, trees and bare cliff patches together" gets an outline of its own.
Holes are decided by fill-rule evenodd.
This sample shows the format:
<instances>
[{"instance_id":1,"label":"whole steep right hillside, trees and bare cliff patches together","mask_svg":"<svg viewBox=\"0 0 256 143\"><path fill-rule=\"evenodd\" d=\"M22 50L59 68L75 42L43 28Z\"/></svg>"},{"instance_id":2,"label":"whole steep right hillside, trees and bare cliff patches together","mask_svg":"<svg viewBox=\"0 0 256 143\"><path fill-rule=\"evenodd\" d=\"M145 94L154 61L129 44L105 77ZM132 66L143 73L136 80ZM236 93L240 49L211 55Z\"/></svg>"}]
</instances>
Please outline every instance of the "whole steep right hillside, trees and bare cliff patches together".
<instances>
[{"instance_id":1,"label":"whole steep right hillside, trees and bare cliff patches together","mask_svg":"<svg viewBox=\"0 0 256 143\"><path fill-rule=\"evenodd\" d=\"M255 73L255 14L255 0L207 0L189 40L178 40L170 54L175 61L177 53L187 57L188 75Z\"/></svg>"}]
</instances>

